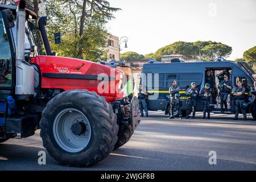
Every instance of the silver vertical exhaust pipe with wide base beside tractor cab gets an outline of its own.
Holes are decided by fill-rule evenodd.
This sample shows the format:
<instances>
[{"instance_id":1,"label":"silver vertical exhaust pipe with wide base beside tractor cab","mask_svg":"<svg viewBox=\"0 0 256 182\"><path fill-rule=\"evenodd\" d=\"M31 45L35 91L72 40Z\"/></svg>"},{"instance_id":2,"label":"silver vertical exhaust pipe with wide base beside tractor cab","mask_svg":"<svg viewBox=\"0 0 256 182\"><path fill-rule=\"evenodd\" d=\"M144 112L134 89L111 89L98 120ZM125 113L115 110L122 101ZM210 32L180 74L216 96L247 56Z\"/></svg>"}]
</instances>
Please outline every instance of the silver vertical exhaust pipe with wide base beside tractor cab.
<instances>
[{"instance_id":1,"label":"silver vertical exhaust pipe with wide base beside tractor cab","mask_svg":"<svg viewBox=\"0 0 256 182\"><path fill-rule=\"evenodd\" d=\"M34 96L34 68L25 61L26 2L19 1L16 9L16 87L17 100Z\"/></svg>"}]
</instances>

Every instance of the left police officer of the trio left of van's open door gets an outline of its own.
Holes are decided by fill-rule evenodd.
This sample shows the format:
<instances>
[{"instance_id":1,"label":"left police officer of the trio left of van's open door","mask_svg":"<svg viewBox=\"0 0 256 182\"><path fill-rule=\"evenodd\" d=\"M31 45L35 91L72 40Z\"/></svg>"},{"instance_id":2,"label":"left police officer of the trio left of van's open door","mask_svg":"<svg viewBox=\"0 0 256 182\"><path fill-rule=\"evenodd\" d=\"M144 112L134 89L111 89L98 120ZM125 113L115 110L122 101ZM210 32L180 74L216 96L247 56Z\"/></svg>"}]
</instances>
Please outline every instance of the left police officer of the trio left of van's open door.
<instances>
[{"instance_id":1,"label":"left police officer of the trio left of van's open door","mask_svg":"<svg viewBox=\"0 0 256 182\"><path fill-rule=\"evenodd\" d=\"M179 92L180 92L180 87L177 86L177 81L176 80L172 81L172 86L169 88L170 105L171 105L171 116L170 116L169 119L173 119L174 118L174 109L179 111L180 119L182 117L181 110L180 110L180 103L179 103L180 102L180 100L179 100Z\"/></svg>"}]
</instances>

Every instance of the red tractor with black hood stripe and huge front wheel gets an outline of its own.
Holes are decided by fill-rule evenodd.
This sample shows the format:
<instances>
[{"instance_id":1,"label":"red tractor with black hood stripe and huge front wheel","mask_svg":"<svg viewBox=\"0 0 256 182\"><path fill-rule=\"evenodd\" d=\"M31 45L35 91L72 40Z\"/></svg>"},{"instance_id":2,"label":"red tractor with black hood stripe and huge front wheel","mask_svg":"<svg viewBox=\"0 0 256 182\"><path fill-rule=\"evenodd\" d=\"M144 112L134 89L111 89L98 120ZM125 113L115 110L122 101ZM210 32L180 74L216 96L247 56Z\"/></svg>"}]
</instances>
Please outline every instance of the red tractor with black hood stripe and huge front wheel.
<instances>
[{"instance_id":1,"label":"red tractor with black hood stripe and huge front wheel","mask_svg":"<svg viewBox=\"0 0 256 182\"><path fill-rule=\"evenodd\" d=\"M40 129L43 146L59 163L97 163L133 135L138 99L125 92L123 71L55 56L46 17L36 22L25 7L24 0L0 5L0 143Z\"/></svg>"}]
</instances>

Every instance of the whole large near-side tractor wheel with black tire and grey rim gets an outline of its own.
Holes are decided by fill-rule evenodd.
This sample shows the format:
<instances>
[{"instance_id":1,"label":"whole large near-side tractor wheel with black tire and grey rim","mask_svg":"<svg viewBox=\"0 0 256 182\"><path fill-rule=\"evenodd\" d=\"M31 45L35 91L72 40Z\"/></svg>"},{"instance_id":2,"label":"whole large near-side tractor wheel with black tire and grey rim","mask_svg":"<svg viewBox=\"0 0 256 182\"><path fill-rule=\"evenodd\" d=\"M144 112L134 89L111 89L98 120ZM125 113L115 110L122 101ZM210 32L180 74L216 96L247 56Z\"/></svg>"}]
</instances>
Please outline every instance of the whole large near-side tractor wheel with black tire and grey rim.
<instances>
[{"instance_id":1,"label":"whole large near-side tractor wheel with black tire and grey rim","mask_svg":"<svg viewBox=\"0 0 256 182\"><path fill-rule=\"evenodd\" d=\"M40 127L43 146L65 166L91 166L108 156L117 142L112 106L88 90L69 90L52 98Z\"/></svg>"}]
</instances>

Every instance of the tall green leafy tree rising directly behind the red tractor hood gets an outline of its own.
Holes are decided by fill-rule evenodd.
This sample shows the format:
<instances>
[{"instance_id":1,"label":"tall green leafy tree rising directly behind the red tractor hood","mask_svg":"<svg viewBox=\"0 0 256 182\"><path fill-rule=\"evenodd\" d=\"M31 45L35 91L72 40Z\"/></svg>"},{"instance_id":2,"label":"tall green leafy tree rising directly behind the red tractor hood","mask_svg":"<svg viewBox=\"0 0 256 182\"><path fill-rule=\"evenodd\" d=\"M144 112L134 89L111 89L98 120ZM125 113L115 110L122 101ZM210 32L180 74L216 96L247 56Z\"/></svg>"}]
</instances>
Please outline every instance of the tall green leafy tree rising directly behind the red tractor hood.
<instances>
[{"instance_id":1,"label":"tall green leafy tree rising directly behind the red tractor hood","mask_svg":"<svg viewBox=\"0 0 256 182\"><path fill-rule=\"evenodd\" d=\"M105 0L47 0L49 38L61 32L63 41L52 44L53 51L61 56L100 60L107 46L105 25L118 10Z\"/></svg>"}]
</instances>

